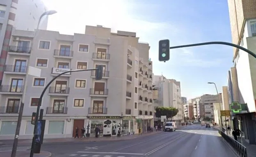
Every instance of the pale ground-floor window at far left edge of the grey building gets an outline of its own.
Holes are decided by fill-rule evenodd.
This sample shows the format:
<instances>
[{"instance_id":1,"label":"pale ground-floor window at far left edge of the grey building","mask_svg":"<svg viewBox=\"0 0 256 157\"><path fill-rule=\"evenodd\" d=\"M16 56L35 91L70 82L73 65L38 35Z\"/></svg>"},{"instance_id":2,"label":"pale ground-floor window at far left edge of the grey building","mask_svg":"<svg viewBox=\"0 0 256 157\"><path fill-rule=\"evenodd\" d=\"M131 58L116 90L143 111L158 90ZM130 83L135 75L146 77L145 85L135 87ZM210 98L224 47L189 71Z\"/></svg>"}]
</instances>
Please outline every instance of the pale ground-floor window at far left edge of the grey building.
<instances>
[{"instance_id":1,"label":"pale ground-floor window at far left edge of the grey building","mask_svg":"<svg viewBox=\"0 0 256 157\"><path fill-rule=\"evenodd\" d=\"M16 121L2 121L0 135L14 135L16 126Z\"/></svg>"}]
</instances>

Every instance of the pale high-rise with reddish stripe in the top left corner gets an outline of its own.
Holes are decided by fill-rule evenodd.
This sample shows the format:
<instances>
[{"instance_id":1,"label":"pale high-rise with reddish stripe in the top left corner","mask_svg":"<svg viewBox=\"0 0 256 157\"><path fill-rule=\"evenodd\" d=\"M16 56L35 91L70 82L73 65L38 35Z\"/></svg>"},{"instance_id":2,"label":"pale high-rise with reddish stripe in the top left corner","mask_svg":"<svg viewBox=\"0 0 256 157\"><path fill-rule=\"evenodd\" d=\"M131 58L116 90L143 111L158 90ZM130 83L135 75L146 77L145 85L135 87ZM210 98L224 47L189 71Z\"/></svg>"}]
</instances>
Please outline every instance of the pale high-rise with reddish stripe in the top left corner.
<instances>
[{"instance_id":1,"label":"pale high-rise with reddish stripe in the top left corner","mask_svg":"<svg viewBox=\"0 0 256 157\"><path fill-rule=\"evenodd\" d=\"M46 11L41 0L0 0L0 64L5 65L11 30L16 29L34 31L39 17ZM48 17L45 16L39 25L39 29L47 29ZM24 40L23 45L28 44ZM19 45L18 45L19 46ZM29 47L27 45L27 47ZM0 70L0 83L3 71Z\"/></svg>"}]
</instances>

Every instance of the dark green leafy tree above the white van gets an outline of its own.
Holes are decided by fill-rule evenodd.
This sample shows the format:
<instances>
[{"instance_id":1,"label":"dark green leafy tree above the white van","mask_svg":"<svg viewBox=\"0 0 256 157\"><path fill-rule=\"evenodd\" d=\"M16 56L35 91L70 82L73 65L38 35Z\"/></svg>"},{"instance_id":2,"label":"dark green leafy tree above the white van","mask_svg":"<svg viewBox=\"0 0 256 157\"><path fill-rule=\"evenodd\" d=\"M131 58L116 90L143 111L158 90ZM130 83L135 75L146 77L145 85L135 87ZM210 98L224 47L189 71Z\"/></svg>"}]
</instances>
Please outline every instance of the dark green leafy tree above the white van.
<instances>
[{"instance_id":1,"label":"dark green leafy tree above the white van","mask_svg":"<svg viewBox=\"0 0 256 157\"><path fill-rule=\"evenodd\" d=\"M162 115L166 115L166 118L172 118L176 116L178 113L178 109L174 107L157 107L155 108L155 117L161 117Z\"/></svg>"}]
</instances>

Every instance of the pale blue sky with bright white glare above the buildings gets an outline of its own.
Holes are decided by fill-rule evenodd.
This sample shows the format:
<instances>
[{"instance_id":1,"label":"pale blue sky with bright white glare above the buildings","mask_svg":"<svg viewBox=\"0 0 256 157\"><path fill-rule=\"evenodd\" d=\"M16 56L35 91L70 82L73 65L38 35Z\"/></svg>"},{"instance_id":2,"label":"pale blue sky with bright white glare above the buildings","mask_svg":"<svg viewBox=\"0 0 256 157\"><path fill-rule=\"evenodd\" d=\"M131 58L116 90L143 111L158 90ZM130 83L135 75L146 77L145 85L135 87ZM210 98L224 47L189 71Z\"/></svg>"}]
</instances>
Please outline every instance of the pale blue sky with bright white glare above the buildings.
<instances>
[{"instance_id":1,"label":"pale blue sky with bright white glare above the buildings","mask_svg":"<svg viewBox=\"0 0 256 157\"><path fill-rule=\"evenodd\" d=\"M232 47L206 45L171 49L168 62L158 61L158 42L170 46L199 42L231 42L226 0L43 0L50 15L48 30L62 34L85 33L85 26L103 25L112 32L133 31L139 42L150 44L154 75L181 82L181 95L194 98L217 94L227 86L233 66ZM73 4L71 4L71 2Z\"/></svg>"}]
</instances>

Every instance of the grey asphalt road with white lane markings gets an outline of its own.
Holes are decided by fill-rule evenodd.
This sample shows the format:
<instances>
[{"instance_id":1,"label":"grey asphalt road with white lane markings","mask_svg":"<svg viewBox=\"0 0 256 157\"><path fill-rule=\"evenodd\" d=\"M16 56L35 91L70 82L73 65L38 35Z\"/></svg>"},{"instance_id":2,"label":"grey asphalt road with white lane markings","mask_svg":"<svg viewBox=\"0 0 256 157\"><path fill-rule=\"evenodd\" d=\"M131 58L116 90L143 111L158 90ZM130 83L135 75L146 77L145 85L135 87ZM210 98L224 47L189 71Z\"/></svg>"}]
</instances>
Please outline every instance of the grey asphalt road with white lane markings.
<instances>
[{"instance_id":1,"label":"grey asphalt road with white lane markings","mask_svg":"<svg viewBox=\"0 0 256 157\"><path fill-rule=\"evenodd\" d=\"M52 152L53 157L236 157L217 130L201 125L125 141L47 143L41 150Z\"/></svg>"}]
</instances>

